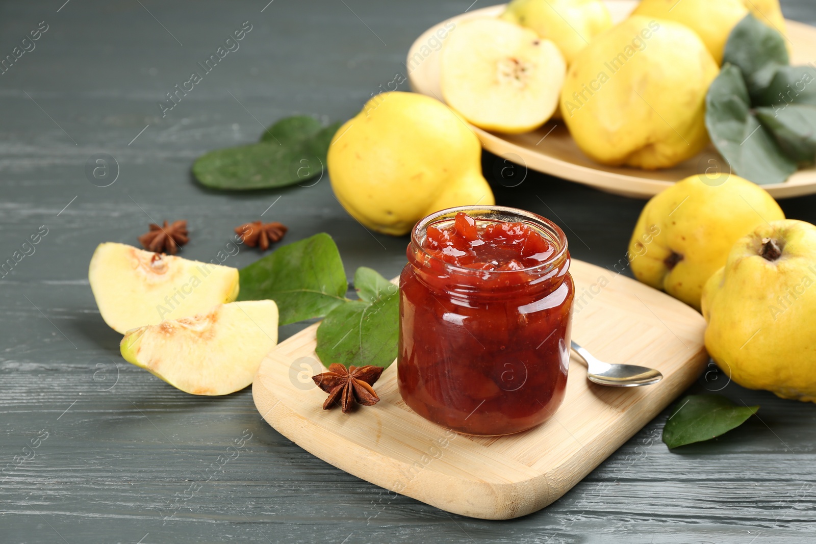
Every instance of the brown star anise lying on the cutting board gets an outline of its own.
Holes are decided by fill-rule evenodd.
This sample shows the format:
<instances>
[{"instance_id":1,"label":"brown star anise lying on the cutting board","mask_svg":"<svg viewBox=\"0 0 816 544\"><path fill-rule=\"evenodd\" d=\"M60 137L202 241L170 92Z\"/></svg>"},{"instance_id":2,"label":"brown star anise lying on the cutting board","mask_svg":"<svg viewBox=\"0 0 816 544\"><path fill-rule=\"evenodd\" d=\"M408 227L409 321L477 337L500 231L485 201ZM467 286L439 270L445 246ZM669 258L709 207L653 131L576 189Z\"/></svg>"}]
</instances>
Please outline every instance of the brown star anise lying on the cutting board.
<instances>
[{"instance_id":1,"label":"brown star anise lying on the cutting board","mask_svg":"<svg viewBox=\"0 0 816 544\"><path fill-rule=\"evenodd\" d=\"M348 370L344 365L333 363L329 366L329 371L317 374L312 379L323 391L329 394L329 398L323 403L323 409L330 409L339 404L344 414L353 408L354 403L363 406L373 406L379 402L379 396L371 387L383 374L382 366L366 365L357 368L352 365Z\"/></svg>"}]
</instances>

